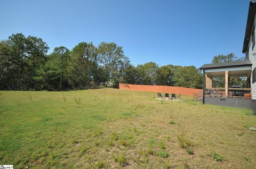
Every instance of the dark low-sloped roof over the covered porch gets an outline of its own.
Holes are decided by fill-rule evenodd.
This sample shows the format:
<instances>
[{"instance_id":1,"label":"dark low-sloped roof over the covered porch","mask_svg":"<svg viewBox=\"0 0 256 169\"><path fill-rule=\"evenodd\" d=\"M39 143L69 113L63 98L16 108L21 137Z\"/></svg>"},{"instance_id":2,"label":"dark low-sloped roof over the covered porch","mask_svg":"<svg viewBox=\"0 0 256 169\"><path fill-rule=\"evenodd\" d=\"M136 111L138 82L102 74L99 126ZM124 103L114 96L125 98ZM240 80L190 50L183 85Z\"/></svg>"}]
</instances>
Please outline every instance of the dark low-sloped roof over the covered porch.
<instances>
[{"instance_id":1,"label":"dark low-sloped roof over the covered porch","mask_svg":"<svg viewBox=\"0 0 256 169\"><path fill-rule=\"evenodd\" d=\"M250 60L246 61L235 61L235 62L224 62L224 63L210 63L204 64L199 69L213 69L213 68L220 68L220 67L239 67L239 66L252 66Z\"/></svg>"}]
</instances>

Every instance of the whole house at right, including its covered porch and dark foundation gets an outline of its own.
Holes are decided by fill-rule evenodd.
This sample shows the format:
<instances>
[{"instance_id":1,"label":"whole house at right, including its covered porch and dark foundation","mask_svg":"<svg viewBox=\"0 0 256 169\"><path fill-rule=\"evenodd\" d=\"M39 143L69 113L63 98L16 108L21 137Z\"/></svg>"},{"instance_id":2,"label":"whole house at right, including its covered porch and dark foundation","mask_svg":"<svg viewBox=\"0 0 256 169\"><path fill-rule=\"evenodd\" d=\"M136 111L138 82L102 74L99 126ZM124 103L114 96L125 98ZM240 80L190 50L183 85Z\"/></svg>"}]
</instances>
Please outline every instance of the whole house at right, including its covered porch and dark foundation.
<instances>
[{"instance_id":1,"label":"whole house at right, including its covered porch and dark foundation","mask_svg":"<svg viewBox=\"0 0 256 169\"><path fill-rule=\"evenodd\" d=\"M203 91L195 94L202 97L203 104L251 108L256 113L256 1L249 4L242 52L245 61L204 64ZM246 88L230 86L230 77L246 77ZM225 78L225 88L212 88L212 78Z\"/></svg>"}]
</instances>

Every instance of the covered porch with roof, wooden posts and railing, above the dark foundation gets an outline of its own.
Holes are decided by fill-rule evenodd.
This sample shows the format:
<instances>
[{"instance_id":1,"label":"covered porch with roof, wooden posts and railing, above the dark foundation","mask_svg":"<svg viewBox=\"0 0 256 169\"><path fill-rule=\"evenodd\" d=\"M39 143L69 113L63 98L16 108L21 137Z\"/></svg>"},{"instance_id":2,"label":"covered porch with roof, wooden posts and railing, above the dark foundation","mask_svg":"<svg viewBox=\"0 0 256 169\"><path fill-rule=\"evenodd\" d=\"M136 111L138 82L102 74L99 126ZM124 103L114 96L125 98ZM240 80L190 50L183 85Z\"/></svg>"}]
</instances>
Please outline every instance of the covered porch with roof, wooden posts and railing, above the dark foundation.
<instances>
[{"instance_id":1,"label":"covered porch with roof, wooden posts and railing, above the dark foundation","mask_svg":"<svg viewBox=\"0 0 256 169\"><path fill-rule=\"evenodd\" d=\"M204 97L251 98L250 61L205 64L200 69L203 70L203 102ZM241 87L241 84L230 86L231 77L245 77L245 87ZM213 78L224 79L225 87L213 88Z\"/></svg>"}]
</instances>

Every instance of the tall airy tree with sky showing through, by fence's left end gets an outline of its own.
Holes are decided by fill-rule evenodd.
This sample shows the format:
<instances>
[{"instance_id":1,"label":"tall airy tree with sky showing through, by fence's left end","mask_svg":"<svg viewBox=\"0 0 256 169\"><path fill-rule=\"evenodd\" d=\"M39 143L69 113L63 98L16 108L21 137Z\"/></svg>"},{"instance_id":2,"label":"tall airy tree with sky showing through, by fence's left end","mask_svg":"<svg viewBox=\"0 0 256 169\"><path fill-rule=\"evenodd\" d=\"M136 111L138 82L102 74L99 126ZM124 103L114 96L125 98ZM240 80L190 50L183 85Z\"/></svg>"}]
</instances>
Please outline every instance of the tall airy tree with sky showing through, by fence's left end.
<instances>
[{"instance_id":1,"label":"tall airy tree with sky showing through, by fence's left end","mask_svg":"<svg viewBox=\"0 0 256 169\"><path fill-rule=\"evenodd\" d=\"M97 49L99 65L106 72L107 83L118 87L119 81L123 81L124 70L129 67L129 58L124 55L123 48L115 43L102 42Z\"/></svg>"}]
</instances>

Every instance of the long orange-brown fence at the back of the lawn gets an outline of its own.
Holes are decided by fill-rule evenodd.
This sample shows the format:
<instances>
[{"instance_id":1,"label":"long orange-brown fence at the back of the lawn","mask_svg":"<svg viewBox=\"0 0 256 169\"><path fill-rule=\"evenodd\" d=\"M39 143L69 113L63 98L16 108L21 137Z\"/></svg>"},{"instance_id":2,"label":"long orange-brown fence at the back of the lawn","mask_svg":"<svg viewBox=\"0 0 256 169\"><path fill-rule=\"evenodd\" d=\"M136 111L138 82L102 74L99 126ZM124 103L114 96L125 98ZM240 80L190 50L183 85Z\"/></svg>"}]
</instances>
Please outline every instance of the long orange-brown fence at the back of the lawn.
<instances>
[{"instance_id":1,"label":"long orange-brown fence at the back of the lawn","mask_svg":"<svg viewBox=\"0 0 256 169\"><path fill-rule=\"evenodd\" d=\"M175 86L130 85L125 83L119 83L119 89L165 92L168 94L181 94L181 95L187 95L187 96L194 96L195 93L202 91L202 89L183 88L183 87L175 87Z\"/></svg>"}]
</instances>

